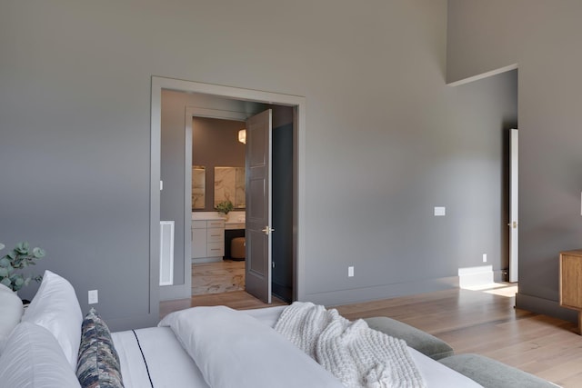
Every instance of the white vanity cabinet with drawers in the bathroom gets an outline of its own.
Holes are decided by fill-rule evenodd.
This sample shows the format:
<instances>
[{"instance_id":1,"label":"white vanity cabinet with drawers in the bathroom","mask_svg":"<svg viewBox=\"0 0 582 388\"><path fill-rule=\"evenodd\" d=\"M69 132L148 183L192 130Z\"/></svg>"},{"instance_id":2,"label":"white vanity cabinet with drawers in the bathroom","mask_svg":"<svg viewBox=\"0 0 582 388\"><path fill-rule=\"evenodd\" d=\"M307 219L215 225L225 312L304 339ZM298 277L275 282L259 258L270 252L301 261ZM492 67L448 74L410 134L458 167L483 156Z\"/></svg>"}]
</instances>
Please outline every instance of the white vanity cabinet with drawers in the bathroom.
<instances>
[{"instance_id":1,"label":"white vanity cabinet with drawers in the bathroom","mask_svg":"<svg viewBox=\"0 0 582 388\"><path fill-rule=\"evenodd\" d=\"M192 221L192 261L205 263L222 260L225 255L225 221Z\"/></svg>"}]
</instances>

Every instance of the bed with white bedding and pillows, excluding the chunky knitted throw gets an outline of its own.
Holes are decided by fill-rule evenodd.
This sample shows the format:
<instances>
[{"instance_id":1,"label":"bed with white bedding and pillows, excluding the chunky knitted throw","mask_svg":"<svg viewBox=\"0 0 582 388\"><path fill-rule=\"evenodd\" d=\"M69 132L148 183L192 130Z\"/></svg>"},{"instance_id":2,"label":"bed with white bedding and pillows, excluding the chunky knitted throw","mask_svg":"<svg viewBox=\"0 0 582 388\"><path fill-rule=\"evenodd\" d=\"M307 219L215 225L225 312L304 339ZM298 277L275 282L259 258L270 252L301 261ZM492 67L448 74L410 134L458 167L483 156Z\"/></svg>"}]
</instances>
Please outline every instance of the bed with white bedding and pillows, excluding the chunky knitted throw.
<instances>
[{"instance_id":1,"label":"bed with white bedding and pillows, excluding the chunky knitted throw","mask_svg":"<svg viewBox=\"0 0 582 388\"><path fill-rule=\"evenodd\" d=\"M109 333L95 310L82 315L73 287L47 271L19 322L4 337L0 332L0 386L346 386L276 332L286 308L194 307L169 314L157 327ZM413 348L406 351L422 383L401 386L480 386Z\"/></svg>"}]
</instances>

